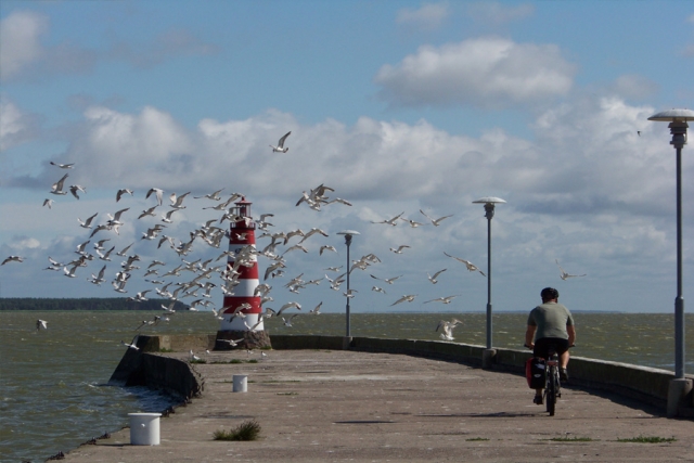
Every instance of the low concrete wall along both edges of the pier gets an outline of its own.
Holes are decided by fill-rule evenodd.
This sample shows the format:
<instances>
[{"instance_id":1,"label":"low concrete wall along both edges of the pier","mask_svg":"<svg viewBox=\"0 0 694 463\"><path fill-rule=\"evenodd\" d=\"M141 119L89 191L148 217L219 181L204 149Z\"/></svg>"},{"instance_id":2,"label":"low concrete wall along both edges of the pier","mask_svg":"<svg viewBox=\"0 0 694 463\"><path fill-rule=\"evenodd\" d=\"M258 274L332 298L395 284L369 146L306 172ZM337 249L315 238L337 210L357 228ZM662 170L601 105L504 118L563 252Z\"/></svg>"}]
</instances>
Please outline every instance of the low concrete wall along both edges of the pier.
<instances>
[{"instance_id":1,"label":"low concrete wall along both edges of the pier","mask_svg":"<svg viewBox=\"0 0 694 463\"><path fill-rule=\"evenodd\" d=\"M474 366L481 365L484 346L449 343L442 340L385 339L374 337L273 335L273 349L321 349L361 350L374 352L404 353L417 357L439 358ZM159 335L139 336L139 351L128 349L112 381L126 384L142 384L158 389L175 391L183 397L193 397L202 390L202 383L188 362L147 352L166 350L213 349L215 335ZM496 349L491 370L525 375L528 350ZM569 363L571 385L609 390L641 401L665 406L668 399L671 371L637 366L628 363L571 357ZM687 375L694 378L693 375ZM687 398L687 407L694 399Z\"/></svg>"}]
</instances>

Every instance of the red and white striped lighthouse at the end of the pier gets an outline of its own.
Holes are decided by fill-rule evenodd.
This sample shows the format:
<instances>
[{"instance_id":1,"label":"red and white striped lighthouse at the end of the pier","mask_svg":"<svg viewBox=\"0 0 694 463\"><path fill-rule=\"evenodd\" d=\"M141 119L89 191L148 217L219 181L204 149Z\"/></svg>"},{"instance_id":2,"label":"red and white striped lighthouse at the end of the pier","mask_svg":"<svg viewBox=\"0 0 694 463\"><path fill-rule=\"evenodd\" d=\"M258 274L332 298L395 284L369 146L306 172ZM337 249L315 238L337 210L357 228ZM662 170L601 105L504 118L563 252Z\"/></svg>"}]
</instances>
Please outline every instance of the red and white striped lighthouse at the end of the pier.
<instances>
[{"instance_id":1,"label":"red and white striped lighthouse at the end of the pier","mask_svg":"<svg viewBox=\"0 0 694 463\"><path fill-rule=\"evenodd\" d=\"M260 296L255 294L258 286L258 259L256 249L256 224L250 217L250 202L242 197L235 203L236 207L231 208L231 220L229 227L229 256L227 258L227 270L234 268L236 259L242 259L243 263L236 266L239 284L232 290L233 294L224 295L224 305L219 331L264 331L262 308L260 307ZM248 247L252 253L248 253ZM233 313L240 306L245 306L240 312L245 317L234 317Z\"/></svg>"}]
</instances>

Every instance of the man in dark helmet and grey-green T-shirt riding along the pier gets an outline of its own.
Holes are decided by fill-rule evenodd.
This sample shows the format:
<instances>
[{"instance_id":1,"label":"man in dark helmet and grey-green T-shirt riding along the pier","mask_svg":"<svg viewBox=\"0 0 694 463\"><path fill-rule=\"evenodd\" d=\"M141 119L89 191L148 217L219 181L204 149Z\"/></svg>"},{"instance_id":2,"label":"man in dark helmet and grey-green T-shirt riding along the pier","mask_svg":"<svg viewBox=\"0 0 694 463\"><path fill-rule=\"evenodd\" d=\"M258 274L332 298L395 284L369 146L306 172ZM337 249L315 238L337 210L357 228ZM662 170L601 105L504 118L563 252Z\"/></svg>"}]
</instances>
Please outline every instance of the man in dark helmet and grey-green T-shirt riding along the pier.
<instances>
[{"instance_id":1,"label":"man in dark helmet and grey-green T-shirt riding along the pier","mask_svg":"<svg viewBox=\"0 0 694 463\"><path fill-rule=\"evenodd\" d=\"M535 357L548 359L550 347L554 347L560 358L560 378L568 381L568 348L576 342L574 317L558 303L560 292L545 287L540 293L542 304L530 311L525 344L532 349ZM535 339L535 342L534 342ZM542 404L542 388L535 390L535 403Z\"/></svg>"}]
</instances>

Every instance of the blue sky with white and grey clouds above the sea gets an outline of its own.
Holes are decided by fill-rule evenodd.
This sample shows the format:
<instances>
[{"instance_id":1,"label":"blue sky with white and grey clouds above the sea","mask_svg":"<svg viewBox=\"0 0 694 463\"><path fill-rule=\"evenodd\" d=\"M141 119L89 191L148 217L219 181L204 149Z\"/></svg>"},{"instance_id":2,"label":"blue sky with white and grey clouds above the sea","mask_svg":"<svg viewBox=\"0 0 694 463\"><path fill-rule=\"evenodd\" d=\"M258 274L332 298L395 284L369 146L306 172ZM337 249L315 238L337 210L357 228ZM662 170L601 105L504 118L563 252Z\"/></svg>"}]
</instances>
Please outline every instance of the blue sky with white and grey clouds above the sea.
<instances>
[{"instance_id":1,"label":"blue sky with white and grey clouds above the sea","mask_svg":"<svg viewBox=\"0 0 694 463\"><path fill-rule=\"evenodd\" d=\"M194 196L223 189L222 200L250 201L255 218L272 214L270 233L329 235L307 239L307 253L287 250L298 236L277 246L287 253L284 275L266 281L274 308L344 311L345 283L332 291L325 275L339 272L325 269L347 265L337 233L355 230L350 260L381 261L350 273L352 312L484 311L487 279L446 254L488 273L488 221L473 201L494 196L506 201L491 221L494 311L528 311L554 286L574 311L672 312L676 156L667 124L647 118L694 108L693 81L687 1L3 0L0 257L24 261L0 266L0 296L156 296L160 285L144 276L153 260L162 275L227 246L197 237L181 257L143 233L162 223L187 242L221 217L204 209L217 202ZM288 151L273 152L288 131ZM692 144L682 169L691 300ZM50 193L65 173L65 190L86 190L79 200ZM296 206L320 184L351 206ZM126 188L133 194L116 203ZM151 188L164 190L164 205L139 219L156 204ZM187 207L162 222L168 196L185 192ZM44 270L49 256L69 262L90 239L78 218L98 214L94 227L124 208L118 234L86 245L95 258L76 278ZM450 217L435 227L420 210ZM374 223L400 214L395 227ZM259 249L270 244L261 233ZM105 250L134 243L128 255L140 256L125 295L111 284L125 257L95 255L105 239ZM336 252L321 255L323 245ZM274 261L258 262L262 280ZM90 283L104 265L106 281ZM562 280L560 265L584 276ZM433 284L427 273L442 269ZM299 274L323 280L298 294L284 287ZM211 295L220 308L218 286ZM395 304L404 295L416 297ZM457 297L433 300L446 296Z\"/></svg>"}]
</instances>

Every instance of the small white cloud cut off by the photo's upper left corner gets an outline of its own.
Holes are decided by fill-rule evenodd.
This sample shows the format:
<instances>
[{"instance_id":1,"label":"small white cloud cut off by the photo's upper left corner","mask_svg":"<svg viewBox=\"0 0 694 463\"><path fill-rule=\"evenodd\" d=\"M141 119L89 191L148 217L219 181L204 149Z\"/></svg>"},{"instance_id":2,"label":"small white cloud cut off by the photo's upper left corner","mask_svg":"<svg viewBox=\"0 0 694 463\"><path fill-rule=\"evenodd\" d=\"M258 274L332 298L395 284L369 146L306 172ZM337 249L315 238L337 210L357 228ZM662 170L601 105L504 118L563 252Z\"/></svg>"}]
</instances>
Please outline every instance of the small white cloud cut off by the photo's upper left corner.
<instances>
[{"instance_id":1,"label":"small white cloud cut off by the photo's upper left corner","mask_svg":"<svg viewBox=\"0 0 694 463\"><path fill-rule=\"evenodd\" d=\"M48 20L39 14L18 11L0 22L0 78L11 79L44 55L40 37L48 30Z\"/></svg>"}]
</instances>

